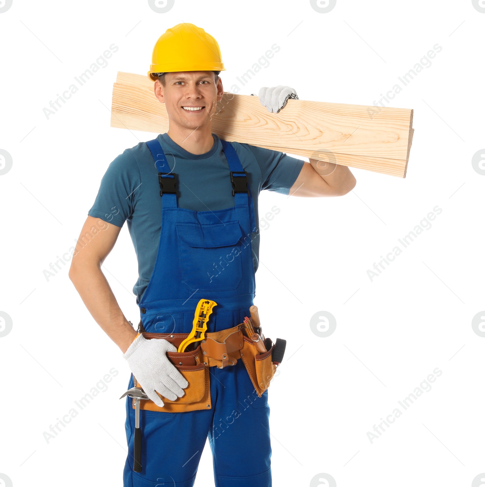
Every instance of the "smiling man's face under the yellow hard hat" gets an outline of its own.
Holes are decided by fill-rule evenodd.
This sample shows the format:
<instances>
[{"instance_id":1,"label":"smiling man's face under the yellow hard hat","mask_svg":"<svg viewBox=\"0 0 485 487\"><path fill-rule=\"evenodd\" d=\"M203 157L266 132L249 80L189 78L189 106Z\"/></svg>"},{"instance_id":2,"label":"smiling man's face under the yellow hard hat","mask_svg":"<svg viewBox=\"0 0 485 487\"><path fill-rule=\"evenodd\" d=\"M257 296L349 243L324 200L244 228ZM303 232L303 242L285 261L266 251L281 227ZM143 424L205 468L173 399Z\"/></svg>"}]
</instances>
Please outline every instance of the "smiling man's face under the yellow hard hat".
<instances>
[{"instance_id":1,"label":"smiling man's face under the yellow hard hat","mask_svg":"<svg viewBox=\"0 0 485 487\"><path fill-rule=\"evenodd\" d=\"M222 81L212 71L180 71L165 75L165 86L155 81L155 96L165 104L171 123L197 129L211 123L216 103L222 98Z\"/></svg>"}]
</instances>

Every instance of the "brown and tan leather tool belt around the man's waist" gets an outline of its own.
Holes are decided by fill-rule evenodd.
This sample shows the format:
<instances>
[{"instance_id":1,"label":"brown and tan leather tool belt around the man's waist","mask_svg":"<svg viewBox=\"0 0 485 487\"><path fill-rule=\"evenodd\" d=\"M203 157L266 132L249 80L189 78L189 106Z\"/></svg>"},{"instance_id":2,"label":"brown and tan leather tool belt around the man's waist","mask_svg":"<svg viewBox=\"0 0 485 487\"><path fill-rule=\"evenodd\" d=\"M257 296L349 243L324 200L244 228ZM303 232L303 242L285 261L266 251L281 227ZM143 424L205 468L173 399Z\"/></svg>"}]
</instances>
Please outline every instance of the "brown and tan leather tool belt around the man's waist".
<instances>
[{"instance_id":1,"label":"brown and tan leather tool belt around the man's waist","mask_svg":"<svg viewBox=\"0 0 485 487\"><path fill-rule=\"evenodd\" d=\"M232 366L242 359L251 378L256 394L261 395L268 389L269 381L276 372L276 366L271 362L274 345L264 354L258 354L250 338L243 335L244 323L233 328L213 333L206 333L205 340L199 342L198 347L190 352L167 352L167 356L189 385L184 389L185 394L171 401L162 397L164 406L161 408L153 401L144 400L140 409L160 412L185 412L201 409L211 409L210 374L209 367ZM188 336L188 333L147 333L140 323L139 332L146 339L163 338L175 347ZM142 387L134 377L137 387ZM135 401L133 399L133 409Z\"/></svg>"}]
</instances>

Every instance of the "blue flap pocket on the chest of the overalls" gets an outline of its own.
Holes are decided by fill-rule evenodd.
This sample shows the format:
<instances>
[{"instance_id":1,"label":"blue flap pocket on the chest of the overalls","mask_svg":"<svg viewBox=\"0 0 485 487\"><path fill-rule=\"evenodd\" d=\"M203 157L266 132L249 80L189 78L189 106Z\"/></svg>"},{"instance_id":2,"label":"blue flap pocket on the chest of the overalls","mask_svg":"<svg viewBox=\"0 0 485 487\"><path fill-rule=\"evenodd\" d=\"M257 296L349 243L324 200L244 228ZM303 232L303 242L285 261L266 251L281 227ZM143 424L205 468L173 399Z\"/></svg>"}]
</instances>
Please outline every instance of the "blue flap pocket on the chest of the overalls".
<instances>
[{"instance_id":1,"label":"blue flap pocket on the chest of the overalls","mask_svg":"<svg viewBox=\"0 0 485 487\"><path fill-rule=\"evenodd\" d=\"M239 222L176 225L182 283L190 291L235 289L242 276Z\"/></svg>"}]
</instances>

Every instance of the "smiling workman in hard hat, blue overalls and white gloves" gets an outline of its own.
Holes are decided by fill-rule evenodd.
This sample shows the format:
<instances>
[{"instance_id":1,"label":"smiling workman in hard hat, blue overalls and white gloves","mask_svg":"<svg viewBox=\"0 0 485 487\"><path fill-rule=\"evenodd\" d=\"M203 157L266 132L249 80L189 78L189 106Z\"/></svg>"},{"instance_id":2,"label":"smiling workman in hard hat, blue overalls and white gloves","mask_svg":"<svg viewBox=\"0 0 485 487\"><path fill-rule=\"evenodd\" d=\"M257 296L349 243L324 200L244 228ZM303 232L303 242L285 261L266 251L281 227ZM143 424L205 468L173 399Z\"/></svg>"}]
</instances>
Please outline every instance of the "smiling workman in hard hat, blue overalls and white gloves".
<instances>
[{"instance_id":1,"label":"smiling workman in hard hat, blue overalls and white gloves","mask_svg":"<svg viewBox=\"0 0 485 487\"><path fill-rule=\"evenodd\" d=\"M183 367L181 361L177 368L174 337L192 330L200 299L217 303L207 326L219 338L250 316L262 189L339 196L355 186L355 178L343 166L330 164L320 175L317 161L305 163L213 134L211 116L223 94L218 74L225 68L216 40L203 29L193 24L168 29L152 60L148 75L155 81L155 96L165 104L169 129L125 150L109 165L80 240L100 219L108 228L78 246L69 273L92 317L124 353L133 373L128 387L138 382L150 399L141 411L141 473L132 469L134 411L132 401L126 401L124 486L192 486L209 436L216 486L268 487L268 392L254 393L243 360L228 363L226 357L223 363L209 355L202 357L202 365L201 348L197 357L188 352L197 358L195 368ZM289 87L260 91L269 111L280 111L288 98L296 98ZM125 318L101 271L125 221L138 259L133 292L143 334ZM184 354L177 357L185 359ZM202 404L206 410L191 409L193 403L184 398L185 391L188 395L198 387L189 387L185 378L195 369L210 374ZM178 402L187 408L168 409Z\"/></svg>"}]
</instances>

